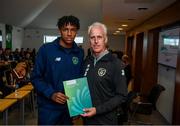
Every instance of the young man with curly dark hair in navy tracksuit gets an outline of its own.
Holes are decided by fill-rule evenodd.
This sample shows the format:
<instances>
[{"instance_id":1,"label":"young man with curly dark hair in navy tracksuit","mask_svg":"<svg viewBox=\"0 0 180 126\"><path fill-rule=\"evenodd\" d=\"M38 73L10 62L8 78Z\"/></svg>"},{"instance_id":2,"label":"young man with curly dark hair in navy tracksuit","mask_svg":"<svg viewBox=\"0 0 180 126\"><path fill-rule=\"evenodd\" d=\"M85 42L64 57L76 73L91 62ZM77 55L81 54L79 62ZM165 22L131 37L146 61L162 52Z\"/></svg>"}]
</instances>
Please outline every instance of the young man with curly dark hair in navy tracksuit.
<instances>
[{"instance_id":1,"label":"young man with curly dark hair in navy tracksuit","mask_svg":"<svg viewBox=\"0 0 180 126\"><path fill-rule=\"evenodd\" d=\"M83 50L74 39L80 28L79 19L59 19L61 37L40 47L31 80L38 94L38 124L71 125L63 81L80 77Z\"/></svg>"}]
</instances>

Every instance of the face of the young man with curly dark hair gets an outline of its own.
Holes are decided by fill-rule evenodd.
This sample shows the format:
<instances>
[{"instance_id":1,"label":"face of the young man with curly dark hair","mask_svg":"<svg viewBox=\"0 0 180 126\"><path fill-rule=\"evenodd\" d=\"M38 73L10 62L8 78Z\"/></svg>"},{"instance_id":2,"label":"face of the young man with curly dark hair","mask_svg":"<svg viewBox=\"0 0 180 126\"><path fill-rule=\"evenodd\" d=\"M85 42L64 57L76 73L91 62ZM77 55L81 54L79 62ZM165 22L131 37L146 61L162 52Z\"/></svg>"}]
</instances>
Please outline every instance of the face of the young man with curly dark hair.
<instances>
[{"instance_id":1,"label":"face of the young man with curly dark hair","mask_svg":"<svg viewBox=\"0 0 180 126\"><path fill-rule=\"evenodd\" d=\"M77 34L76 26L71 24L64 25L64 27L60 28L59 31L62 37L63 44L72 45Z\"/></svg>"}]
</instances>

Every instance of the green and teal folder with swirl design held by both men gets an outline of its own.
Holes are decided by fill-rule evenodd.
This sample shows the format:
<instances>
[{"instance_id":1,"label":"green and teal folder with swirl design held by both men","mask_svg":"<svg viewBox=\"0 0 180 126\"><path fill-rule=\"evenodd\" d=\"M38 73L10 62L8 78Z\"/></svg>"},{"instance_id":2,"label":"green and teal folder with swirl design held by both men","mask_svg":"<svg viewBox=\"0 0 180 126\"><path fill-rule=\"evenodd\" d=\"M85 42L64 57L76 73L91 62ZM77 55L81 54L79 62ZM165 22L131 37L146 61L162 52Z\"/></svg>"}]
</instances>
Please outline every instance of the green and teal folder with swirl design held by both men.
<instances>
[{"instance_id":1,"label":"green and teal folder with swirl design held by both men","mask_svg":"<svg viewBox=\"0 0 180 126\"><path fill-rule=\"evenodd\" d=\"M69 97L67 104L71 117L83 114L84 108L92 107L92 101L86 77L64 81L63 84L65 94Z\"/></svg>"}]
</instances>

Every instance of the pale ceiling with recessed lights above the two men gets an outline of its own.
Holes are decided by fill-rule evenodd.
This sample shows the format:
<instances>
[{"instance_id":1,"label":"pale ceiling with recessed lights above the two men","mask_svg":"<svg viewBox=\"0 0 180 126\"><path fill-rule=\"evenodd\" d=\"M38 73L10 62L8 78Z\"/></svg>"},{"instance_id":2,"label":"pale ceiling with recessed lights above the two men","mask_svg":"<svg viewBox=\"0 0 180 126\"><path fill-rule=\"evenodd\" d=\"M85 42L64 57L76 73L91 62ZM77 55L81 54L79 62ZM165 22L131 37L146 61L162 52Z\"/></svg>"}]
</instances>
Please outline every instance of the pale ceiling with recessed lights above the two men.
<instances>
[{"instance_id":1,"label":"pale ceiling with recessed lights above the two men","mask_svg":"<svg viewBox=\"0 0 180 126\"><path fill-rule=\"evenodd\" d=\"M23 28L57 29L59 17L74 15L80 30L100 21L114 33L122 24L129 30L176 0L0 0L0 23ZM147 10L138 8L148 8ZM124 33L124 32L122 32Z\"/></svg>"}]
</instances>

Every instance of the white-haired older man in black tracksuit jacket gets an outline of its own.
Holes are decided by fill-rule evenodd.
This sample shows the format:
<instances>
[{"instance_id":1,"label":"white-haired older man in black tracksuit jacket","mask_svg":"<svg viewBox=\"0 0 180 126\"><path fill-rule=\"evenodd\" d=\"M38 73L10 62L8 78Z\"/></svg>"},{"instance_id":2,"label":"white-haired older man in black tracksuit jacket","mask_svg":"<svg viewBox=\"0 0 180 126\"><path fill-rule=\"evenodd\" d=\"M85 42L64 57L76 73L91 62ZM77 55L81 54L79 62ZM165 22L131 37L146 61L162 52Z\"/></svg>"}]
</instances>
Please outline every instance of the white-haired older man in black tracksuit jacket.
<instances>
[{"instance_id":1,"label":"white-haired older man in black tracksuit jacket","mask_svg":"<svg viewBox=\"0 0 180 126\"><path fill-rule=\"evenodd\" d=\"M93 23L88 29L92 56L85 60L93 107L85 108L86 125L117 125L117 107L125 100L127 87L122 63L107 50L107 28Z\"/></svg>"}]
</instances>

